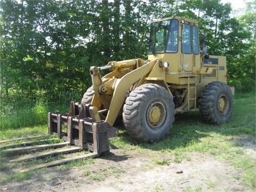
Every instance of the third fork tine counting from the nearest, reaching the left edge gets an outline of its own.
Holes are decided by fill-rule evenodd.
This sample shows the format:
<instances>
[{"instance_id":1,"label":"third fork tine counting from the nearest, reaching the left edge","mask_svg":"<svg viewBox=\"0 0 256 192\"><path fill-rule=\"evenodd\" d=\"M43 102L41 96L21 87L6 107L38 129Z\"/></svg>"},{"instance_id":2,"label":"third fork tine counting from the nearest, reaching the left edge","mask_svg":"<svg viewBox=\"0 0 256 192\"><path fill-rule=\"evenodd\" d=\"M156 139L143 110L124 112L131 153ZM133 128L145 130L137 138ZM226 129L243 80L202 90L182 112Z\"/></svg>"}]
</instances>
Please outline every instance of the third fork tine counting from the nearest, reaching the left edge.
<instances>
[{"instance_id":1,"label":"third fork tine counting from the nearest, reaching the left edge","mask_svg":"<svg viewBox=\"0 0 256 192\"><path fill-rule=\"evenodd\" d=\"M48 148L54 148L54 147L63 147L65 145L68 145L70 142L61 142L61 143L54 143L54 144L45 144L45 145L38 145L38 146L28 146L28 147L17 147L12 149L4 149L2 152L8 153L8 152L20 152L20 151L26 151L26 150L38 150L38 149L48 149Z\"/></svg>"}]
</instances>

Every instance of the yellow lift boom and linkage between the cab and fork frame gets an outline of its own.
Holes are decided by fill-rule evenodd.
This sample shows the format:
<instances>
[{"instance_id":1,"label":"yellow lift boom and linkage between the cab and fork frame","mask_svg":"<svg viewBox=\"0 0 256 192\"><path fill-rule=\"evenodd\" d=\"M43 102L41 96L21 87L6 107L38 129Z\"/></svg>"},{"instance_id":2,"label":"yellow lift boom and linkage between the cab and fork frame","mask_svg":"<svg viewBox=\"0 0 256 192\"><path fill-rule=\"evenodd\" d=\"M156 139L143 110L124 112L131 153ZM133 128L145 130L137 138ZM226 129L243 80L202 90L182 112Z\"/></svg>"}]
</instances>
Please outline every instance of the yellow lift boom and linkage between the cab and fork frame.
<instances>
[{"instance_id":1,"label":"yellow lift boom and linkage between the cab and fork frame","mask_svg":"<svg viewBox=\"0 0 256 192\"><path fill-rule=\"evenodd\" d=\"M100 67L91 67L92 86L94 89L94 97L92 99L92 105L101 103L101 106L106 106L107 116L105 121L113 126L119 111L121 110L125 95L129 93L130 88L134 89L137 85L135 83L140 82L143 84L146 81L148 74L152 73L154 66L158 65L159 60L155 59L150 62L146 62L142 59L134 59L123 62L111 62L110 69L114 69L111 75L103 77L103 81L99 81ZM137 66L138 63L138 66ZM119 76L114 75L118 72L116 70L123 69L129 71L130 67L135 67L134 70ZM163 72L164 73L164 72ZM100 82L100 83L99 83ZM108 98L108 99L106 99ZM98 108L98 110L101 110Z\"/></svg>"}]
</instances>

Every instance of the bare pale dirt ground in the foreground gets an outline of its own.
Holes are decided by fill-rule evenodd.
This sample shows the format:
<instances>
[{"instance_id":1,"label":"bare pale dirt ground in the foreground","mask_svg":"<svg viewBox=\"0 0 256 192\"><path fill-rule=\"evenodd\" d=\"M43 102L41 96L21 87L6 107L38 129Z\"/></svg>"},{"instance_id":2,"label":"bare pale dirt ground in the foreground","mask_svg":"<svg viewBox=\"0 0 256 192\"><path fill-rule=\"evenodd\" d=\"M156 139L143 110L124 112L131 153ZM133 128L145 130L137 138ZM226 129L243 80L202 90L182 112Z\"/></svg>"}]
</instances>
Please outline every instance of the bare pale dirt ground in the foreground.
<instances>
[{"instance_id":1,"label":"bare pale dirt ground in the foreground","mask_svg":"<svg viewBox=\"0 0 256 192\"><path fill-rule=\"evenodd\" d=\"M256 145L242 138L239 146L256 158ZM131 153L130 153L131 152ZM191 153L189 161L157 165L148 154L111 150L89 165L90 175L100 172L104 178L88 179L78 168L52 167L43 175L0 186L2 191L253 191L242 184L242 171L214 156ZM164 158L169 158L163 154ZM161 157L163 158L163 157ZM38 179L39 178L39 179Z\"/></svg>"}]
</instances>

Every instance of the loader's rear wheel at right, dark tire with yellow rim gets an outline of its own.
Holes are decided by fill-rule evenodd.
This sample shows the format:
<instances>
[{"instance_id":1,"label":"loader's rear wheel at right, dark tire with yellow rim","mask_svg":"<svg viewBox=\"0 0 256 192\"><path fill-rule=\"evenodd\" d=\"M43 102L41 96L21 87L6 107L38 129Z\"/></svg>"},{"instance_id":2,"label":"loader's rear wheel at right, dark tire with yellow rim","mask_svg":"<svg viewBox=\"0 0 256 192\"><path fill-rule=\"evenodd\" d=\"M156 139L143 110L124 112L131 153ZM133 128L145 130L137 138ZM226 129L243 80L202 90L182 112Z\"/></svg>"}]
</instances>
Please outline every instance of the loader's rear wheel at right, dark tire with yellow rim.
<instances>
[{"instance_id":1,"label":"loader's rear wheel at right, dark tire with yellow rim","mask_svg":"<svg viewBox=\"0 0 256 192\"><path fill-rule=\"evenodd\" d=\"M204 121L220 124L227 122L230 118L233 103L233 95L229 86L222 82L212 82L205 86L198 108Z\"/></svg>"}]
</instances>

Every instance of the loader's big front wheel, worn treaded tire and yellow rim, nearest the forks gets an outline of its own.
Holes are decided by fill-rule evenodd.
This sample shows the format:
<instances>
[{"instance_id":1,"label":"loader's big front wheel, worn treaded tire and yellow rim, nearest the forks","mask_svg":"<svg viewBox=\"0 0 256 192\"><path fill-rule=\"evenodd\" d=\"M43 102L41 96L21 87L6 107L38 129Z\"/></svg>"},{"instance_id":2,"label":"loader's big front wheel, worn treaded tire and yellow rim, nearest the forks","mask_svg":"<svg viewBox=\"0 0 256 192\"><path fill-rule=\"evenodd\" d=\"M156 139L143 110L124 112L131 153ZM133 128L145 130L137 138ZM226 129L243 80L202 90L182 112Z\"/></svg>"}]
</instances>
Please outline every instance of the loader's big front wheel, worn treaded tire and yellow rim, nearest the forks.
<instances>
[{"instance_id":1,"label":"loader's big front wheel, worn treaded tire and yellow rim, nearest the forks","mask_svg":"<svg viewBox=\"0 0 256 192\"><path fill-rule=\"evenodd\" d=\"M174 122L172 95L158 84L143 84L127 97L123 121L127 133L136 141L164 139Z\"/></svg>"}]
</instances>

